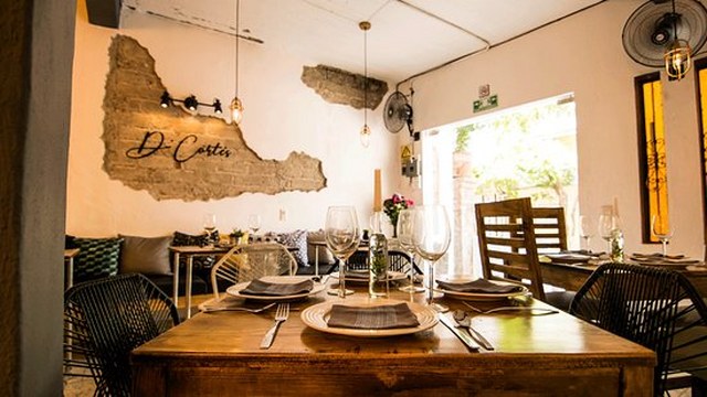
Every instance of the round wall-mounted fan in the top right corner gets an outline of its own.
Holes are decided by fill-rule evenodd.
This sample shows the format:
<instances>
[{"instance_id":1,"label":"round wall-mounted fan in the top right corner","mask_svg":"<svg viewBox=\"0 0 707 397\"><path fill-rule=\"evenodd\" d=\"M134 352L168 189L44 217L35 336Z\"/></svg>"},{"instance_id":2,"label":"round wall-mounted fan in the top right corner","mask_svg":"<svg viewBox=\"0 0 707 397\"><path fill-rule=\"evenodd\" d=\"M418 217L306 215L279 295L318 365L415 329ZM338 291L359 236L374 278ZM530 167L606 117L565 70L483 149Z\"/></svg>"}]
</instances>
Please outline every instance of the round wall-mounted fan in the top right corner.
<instances>
[{"instance_id":1,"label":"round wall-mounted fan in the top right corner","mask_svg":"<svg viewBox=\"0 0 707 397\"><path fill-rule=\"evenodd\" d=\"M707 40L707 9L698 0L648 0L623 26L623 47L642 65L665 66L665 54L684 40L695 54Z\"/></svg>"}]
</instances>

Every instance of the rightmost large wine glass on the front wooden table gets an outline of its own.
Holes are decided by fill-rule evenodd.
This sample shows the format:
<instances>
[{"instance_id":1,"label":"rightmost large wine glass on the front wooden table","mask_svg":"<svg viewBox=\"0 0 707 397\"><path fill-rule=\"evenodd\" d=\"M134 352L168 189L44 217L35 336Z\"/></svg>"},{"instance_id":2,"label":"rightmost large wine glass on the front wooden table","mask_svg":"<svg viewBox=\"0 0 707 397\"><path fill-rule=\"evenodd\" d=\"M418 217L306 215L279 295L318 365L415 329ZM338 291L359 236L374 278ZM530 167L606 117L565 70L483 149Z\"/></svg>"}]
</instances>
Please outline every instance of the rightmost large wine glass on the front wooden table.
<instances>
[{"instance_id":1,"label":"rightmost large wine glass on the front wooden table","mask_svg":"<svg viewBox=\"0 0 707 397\"><path fill-rule=\"evenodd\" d=\"M428 261L428 304L444 312L446 307L434 302L434 264L450 247L451 230L446 208L442 205L424 205L415 211L412 243L415 253Z\"/></svg>"}]
</instances>

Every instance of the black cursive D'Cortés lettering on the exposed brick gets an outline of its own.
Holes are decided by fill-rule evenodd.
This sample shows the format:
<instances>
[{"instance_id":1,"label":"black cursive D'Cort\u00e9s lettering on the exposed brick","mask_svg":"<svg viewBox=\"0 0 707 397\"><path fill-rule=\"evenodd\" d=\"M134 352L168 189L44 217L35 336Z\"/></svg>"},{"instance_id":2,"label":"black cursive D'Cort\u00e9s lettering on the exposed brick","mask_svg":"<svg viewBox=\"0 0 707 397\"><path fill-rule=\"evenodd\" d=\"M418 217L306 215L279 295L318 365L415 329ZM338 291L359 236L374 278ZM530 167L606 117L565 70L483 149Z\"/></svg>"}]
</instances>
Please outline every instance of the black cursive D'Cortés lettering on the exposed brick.
<instances>
[{"instance_id":1,"label":"black cursive D'Cort\u00e9s lettering on the exposed brick","mask_svg":"<svg viewBox=\"0 0 707 397\"><path fill-rule=\"evenodd\" d=\"M191 133L177 141L165 141L165 133L160 131L147 131L143 137L143 141L135 148L129 148L125 155L130 159L145 159L160 150L171 151L172 159L178 163L187 162L197 155L204 157L222 157L228 159L231 157L231 149L221 142L214 144L198 144L199 138Z\"/></svg>"}]
</instances>

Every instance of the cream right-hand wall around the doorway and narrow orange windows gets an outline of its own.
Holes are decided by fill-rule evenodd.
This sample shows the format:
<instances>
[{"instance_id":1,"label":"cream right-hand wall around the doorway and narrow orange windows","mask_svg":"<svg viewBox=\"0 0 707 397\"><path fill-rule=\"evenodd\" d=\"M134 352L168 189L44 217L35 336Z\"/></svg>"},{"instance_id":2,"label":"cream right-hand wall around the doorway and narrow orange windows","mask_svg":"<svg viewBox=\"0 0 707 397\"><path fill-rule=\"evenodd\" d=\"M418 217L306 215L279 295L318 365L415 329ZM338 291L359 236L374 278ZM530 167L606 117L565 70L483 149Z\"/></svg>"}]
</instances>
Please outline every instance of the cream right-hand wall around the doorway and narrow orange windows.
<instances>
[{"instance_id":1,"label":"cream right-hand wall around the doorway and narrow orange windows","mask_svg":"<svg viewBox=\"0 0 707 397\"><path fill-rule=\"evenodd\" d=\"M635 76L654 69L634 63L621 33L642 1L608 1L490 51L415 78L415 126L431 129L474 116L478 86L490 84L498 109L574 93L578 118L581 213L598 216L618 197L626 251L644 246L640 229ZM700 148L694 75L680 82L663 77L667 133L671 219L676 227L669 250L703 255ZM408 87L402 87L407 92ZM401 138L401 142L405 139ZM423 159L424 161L424 159ZM424 178L424 176L423 176ZM407 180L395 185L419 196ZM594 237L594 249L604 243Z\"/></svg>"}]
</instances>

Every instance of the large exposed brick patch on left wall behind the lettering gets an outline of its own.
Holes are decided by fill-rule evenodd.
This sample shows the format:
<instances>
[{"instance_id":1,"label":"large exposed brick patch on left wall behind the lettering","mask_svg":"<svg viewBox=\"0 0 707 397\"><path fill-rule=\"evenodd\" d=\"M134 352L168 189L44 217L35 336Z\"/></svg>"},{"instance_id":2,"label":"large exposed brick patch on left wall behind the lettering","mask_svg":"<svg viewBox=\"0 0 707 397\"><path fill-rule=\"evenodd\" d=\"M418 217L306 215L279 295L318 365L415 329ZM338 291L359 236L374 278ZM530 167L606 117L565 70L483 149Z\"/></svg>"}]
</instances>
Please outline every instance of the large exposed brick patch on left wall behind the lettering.
<instances>
[{"instance_id":1,"label":"large exposed brick patch on left wall behind the lettering","mask_svg":"<svg viewBox=\"0 0 707 397\"><path fill-rule=\"evenodd\" d=\"M112 179L157 200L184 201L326 186L317 159L292 152L284 161L265 160L236 125L192 115L178 104L160 107L166 88L155 60L136 40L116 35L109 55L102 138L103 168Z\"/></svg>"}]
</instances>

